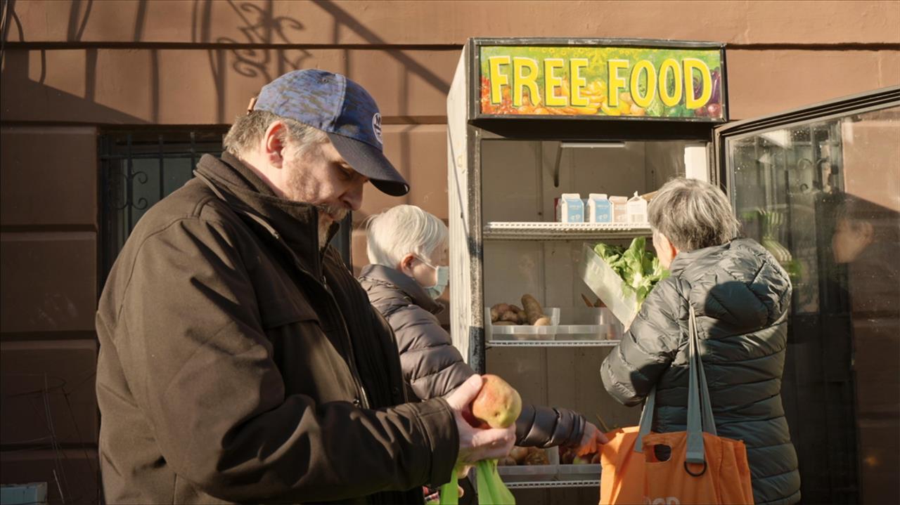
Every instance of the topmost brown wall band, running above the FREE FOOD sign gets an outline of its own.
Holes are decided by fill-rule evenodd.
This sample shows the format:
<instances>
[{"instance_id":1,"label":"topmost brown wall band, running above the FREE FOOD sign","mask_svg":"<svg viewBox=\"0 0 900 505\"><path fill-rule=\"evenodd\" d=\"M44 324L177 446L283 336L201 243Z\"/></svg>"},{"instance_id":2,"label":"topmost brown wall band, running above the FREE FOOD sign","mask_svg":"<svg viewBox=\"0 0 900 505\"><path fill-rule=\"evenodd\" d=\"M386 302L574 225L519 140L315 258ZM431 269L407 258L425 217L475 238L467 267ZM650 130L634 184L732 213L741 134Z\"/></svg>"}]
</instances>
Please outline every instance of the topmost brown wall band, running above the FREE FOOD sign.
<instances>
[{"instance_id":1,"label":"topmost brown wall band, running above the FREE FOOD sign","mask_svg":"<svg viewBox=\"0 0 900 505\"><path fill-rule=\"evenodd\" d=\"M16 2L19 41L462 44L468 37L644 37L729 43L900 41L880 2ZM398 30L398 23L402 29Z\"/></svg>"}]
</instances>

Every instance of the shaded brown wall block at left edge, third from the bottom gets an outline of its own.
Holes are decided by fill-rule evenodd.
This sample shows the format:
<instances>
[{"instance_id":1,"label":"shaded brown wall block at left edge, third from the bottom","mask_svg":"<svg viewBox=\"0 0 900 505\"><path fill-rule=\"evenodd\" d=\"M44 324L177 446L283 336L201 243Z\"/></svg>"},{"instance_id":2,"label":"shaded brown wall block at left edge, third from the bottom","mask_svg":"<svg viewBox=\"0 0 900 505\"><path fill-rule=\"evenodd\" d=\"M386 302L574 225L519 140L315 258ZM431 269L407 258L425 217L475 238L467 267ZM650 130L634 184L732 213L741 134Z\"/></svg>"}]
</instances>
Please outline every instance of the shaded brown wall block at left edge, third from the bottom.
<instances>
[{"instance_id":1,"label":"shaded brown wall block at left edge, third from the bottom","mask_svg":"<svg viewBox=\"0 0 900 505\"><path fill-rule=\"evenodd\" d=\"M0 332L94 331L93 232L0 234Z\"/></svg>"}]
</instances>

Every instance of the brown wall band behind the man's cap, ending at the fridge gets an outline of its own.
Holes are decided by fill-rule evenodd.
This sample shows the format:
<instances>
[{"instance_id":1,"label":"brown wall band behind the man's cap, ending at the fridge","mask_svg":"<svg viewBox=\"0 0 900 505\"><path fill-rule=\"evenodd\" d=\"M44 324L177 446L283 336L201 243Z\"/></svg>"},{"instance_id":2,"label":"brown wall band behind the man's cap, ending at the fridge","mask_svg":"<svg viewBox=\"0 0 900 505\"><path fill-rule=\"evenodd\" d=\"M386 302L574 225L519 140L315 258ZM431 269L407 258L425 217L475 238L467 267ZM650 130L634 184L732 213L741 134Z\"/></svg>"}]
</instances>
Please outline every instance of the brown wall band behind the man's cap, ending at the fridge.
<instances>
[{"instance_id":1,"label":"brown wall band behind the man's cap, ending at the fridge","mask_svg":"<svg viewBox=\"0 0 900 505\"><path fill-rule=\"evenodd\" d=\"M278 75L319 67L350 76L382 115L446 116L456 50L59 49L4 52L7 121L230 123ZM35 107L35 104L40 104Z\"/></svg>"}]
</instances>

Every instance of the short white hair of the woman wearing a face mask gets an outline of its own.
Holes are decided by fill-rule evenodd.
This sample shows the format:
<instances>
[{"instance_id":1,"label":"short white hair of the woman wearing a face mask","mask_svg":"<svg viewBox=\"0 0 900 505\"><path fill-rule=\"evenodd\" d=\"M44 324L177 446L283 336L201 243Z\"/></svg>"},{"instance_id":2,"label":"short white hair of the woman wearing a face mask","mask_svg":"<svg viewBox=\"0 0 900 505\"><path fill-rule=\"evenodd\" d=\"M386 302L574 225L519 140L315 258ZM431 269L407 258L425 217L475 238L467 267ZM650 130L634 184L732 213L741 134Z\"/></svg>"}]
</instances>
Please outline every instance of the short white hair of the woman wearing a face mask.
<instances>
[{"instance_id":1,"label":"short white hair of the woman wearing a face mask","mask_svg":"<svg viewBox=\"0 0 900 505\"><path fill-rule=\"evenodd\" d=\"M392 269L409 253L428 261L447 240L444 222L415 205L398 205L370 216L365 227L369 262Z\"/></svg>"}]
</instances>

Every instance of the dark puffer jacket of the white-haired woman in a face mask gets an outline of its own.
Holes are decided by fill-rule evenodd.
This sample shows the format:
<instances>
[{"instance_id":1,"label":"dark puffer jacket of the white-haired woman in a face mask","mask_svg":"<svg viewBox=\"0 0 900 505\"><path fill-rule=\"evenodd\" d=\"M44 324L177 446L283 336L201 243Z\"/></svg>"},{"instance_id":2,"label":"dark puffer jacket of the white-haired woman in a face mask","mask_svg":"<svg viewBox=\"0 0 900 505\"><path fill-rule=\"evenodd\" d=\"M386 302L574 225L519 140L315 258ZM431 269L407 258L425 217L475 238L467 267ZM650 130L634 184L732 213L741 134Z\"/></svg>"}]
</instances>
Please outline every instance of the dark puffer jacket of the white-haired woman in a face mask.
<instances>
[{"instance_id":1,"label":"dark puffer jacket of the white-haired woman in a face mask","mask_svg":"<svg viewBox=\"0 0 900 505\"><path fill-rule=\"evenodd\" d=\"M412 393L428 400L452 392L475 373L463 360L435 314L444 306L403 272L368 265L359 278L369 301L393 328L400 350L403 378ZM516 421L520 447L575 446L585 420L569 409L523 405Z\"/></svg>"}]
</instances>

